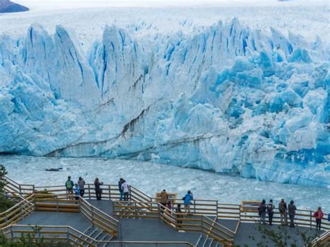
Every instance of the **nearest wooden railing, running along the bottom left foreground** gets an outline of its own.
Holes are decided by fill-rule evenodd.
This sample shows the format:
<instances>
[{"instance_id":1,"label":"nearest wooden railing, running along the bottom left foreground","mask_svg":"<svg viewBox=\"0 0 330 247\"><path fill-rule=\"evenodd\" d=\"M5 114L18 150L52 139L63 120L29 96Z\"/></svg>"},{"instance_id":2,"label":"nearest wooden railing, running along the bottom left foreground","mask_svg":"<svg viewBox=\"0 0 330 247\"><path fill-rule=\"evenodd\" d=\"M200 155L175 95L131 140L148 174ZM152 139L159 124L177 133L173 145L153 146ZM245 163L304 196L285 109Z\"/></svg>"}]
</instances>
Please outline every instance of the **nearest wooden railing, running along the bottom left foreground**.
<instances>
[{"instance_id":1,"label":"nearest wooden railing, running along the bottom left foreground","mask_svg":"<svg viewBox=\"0 0 330 247\"><path fill-rule=\"evenodd\" d=\"M186 241L102 241L96 240L68 225L38 225L38 230L31 225L8 225L1 230L8 239L17 241L21 238L22 234L30 234L33 236L33 241L38 241L40 246L45 246L47 243L63 243L68 246L103 246L105 244L111 244L111 246L130 246L141 244L143 246L189 246L193 247Z\"/></svg>"}]
</instances>

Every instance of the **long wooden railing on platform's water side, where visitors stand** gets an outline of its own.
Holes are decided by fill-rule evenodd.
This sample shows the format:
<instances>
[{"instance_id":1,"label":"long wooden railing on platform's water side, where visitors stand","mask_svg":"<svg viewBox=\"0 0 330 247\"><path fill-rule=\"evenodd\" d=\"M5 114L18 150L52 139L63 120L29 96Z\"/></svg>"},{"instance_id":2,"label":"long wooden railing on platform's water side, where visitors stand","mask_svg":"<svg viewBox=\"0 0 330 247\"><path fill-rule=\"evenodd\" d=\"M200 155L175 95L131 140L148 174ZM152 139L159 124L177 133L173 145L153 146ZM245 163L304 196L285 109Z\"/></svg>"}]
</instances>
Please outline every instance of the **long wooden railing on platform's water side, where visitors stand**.
<instances>
[{"instance_id":1,"label":"long wooden railing on platform's water side, where visitors stand","mask_svg":"<svg viewBox=\"0 0 330 247\"><path fill-rule=\"evenodd\" d=\"M13 193L21 193L22 196L29 196L33 191L47 191L55 195L65 195L66 189L63 186L34 186L32 184L17 184L15 181L6 177L6 190L13 191ZM147 196L134 186L129 186L129 200L130 205L125 202L116 202L120 198L118 184L103 184L102 199L114 201L114 214L120 214L122 217L144 217L157 218L157 199ZM86 184L84 198L95 199L94 184ZM41 203L41 202L40 202ZM173 200L173 207L177 207L178 203L182 203L180 199ZM39 204L40 205L40 204ZM61 207L61 203L59 203ZM74 207L74 206L72 206ZM249 207L251 209L251 207ZM256 223L259 221L258 210L246 211L242 205L220 203L217 200L193 200L191 203L191 212L194 215L210 216L221 219L236 220L237 227L234 232L237 232L240 222ZM125 214L125 215L124 215ZM274 210L273 223L281 223L280 214L277 209ZM295 223L299 226L315 228L315 218L311 210L297 209L295 216ZM322 222L323 230L330 230L330 224L327 221L327 214L324 214L324 221Z\"/></svg>"}]
</instances>

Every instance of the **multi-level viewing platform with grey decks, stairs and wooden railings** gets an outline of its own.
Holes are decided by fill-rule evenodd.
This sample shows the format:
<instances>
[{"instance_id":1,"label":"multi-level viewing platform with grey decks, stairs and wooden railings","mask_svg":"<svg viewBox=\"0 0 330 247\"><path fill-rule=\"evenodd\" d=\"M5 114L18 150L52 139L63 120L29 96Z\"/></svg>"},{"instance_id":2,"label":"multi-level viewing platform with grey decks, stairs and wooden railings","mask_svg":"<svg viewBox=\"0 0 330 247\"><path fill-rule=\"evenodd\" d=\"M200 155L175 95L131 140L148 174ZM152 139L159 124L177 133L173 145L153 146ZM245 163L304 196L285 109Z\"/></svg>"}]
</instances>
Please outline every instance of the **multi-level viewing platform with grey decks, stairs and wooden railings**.
<instances>
[{"instance_id":1,"label":"multi-level viewing platform with grey decks, stairs and wooden railings","mask_svg":"<svg viewBox=\"0 0 330 247\"><path fill-rule=\"evenodd\" d=\"M16 239L33 233L49 241L64 241L71 246L256 246L258 242L275 246L259 228L285 231L289 243L299 232L315 238L314 246L330 246L327 214L322 230L316 230L313 212L297 209L296 228L279 229L278 210L274 225L260 225L258 207L236 205L218 200L193 200L191 215L178 214L159 204L134 186L129 186L129 201L120 201L117 184L102 185L102 200L95 200L93 184L86 184L84 198L67 195L65 186L17 184L8 177L3 181L6 196L17 204L0 214L1 232ZM173 198L173 208L182 203ZM54 240L55 239L55 240Z\"/></svg>"}]
</instances>

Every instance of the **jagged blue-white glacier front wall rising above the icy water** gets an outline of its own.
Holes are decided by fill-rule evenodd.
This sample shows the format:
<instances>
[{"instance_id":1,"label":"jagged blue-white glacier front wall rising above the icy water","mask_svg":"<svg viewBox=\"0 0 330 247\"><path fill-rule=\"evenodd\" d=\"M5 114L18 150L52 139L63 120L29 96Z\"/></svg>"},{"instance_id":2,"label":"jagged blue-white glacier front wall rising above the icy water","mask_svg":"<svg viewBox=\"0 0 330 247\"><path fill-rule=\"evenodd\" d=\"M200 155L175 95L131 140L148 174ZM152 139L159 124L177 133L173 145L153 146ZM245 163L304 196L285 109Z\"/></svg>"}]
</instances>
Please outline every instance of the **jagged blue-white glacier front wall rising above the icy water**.
<instances>
[{"instance_id":1,"label":"jagged blue-white glacier front wall rising above the icy water","mask_svg":"<svg viewBox=\"0 0 330 247\"><path fill-rule=\"evenodd\" d=\"M0 152L139 159L329 187L329 40L238 19L0 38Z\"/></svg>"}]
</instances>

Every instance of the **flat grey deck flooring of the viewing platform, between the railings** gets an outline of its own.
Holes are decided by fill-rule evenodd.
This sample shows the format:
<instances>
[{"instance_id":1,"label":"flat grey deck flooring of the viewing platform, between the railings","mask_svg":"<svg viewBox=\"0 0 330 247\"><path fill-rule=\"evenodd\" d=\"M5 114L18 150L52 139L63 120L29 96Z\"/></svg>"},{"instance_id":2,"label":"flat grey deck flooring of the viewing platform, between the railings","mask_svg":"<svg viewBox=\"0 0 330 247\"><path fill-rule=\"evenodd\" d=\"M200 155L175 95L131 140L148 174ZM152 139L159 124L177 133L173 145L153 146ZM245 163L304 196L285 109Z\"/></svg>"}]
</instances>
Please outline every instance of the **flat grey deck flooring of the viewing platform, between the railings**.
<instances>
[{"instance_id":1,"label":"flat grey deck flooring of the viewing platform, between the railings","mask_svg":"<svg viewBox=\"0 0 330 247\"><path fill-rule=\"evenodd\" d=\"M93 205L100 209L107 209L104 211L112 212L111 201L90 201ZM219 219L219 223L226 226L230 230L234 230L237 221ZM60 213L60 212L33 212L33 214L27 216L19 222L21 225L70 225L81 232L84 232L91 226L91 223L77 213ZM196 244L200 233L198 232L177 232L173 228L169 227L159 219L138 219L138 218L120 218L121 233L118 240L123 241L189 241L191 244ZM262 225L264 228L272 229L278 232L278 225ZM297 232L306 232L307 236L315 236L320 234L315 229L310 228L287 228L290 234L288 244L294 244L297 241L297 246L302 246L303 243L299 242ZM253 238L249 238L253 236ZM235 245L237 246L256 246L256 244L262 241L267 246L275 246L269 239L263 239L262 234L258 231L258 224L253 223L240 223L237 234L235 234Z\"/></svg>"}]
</instances>

